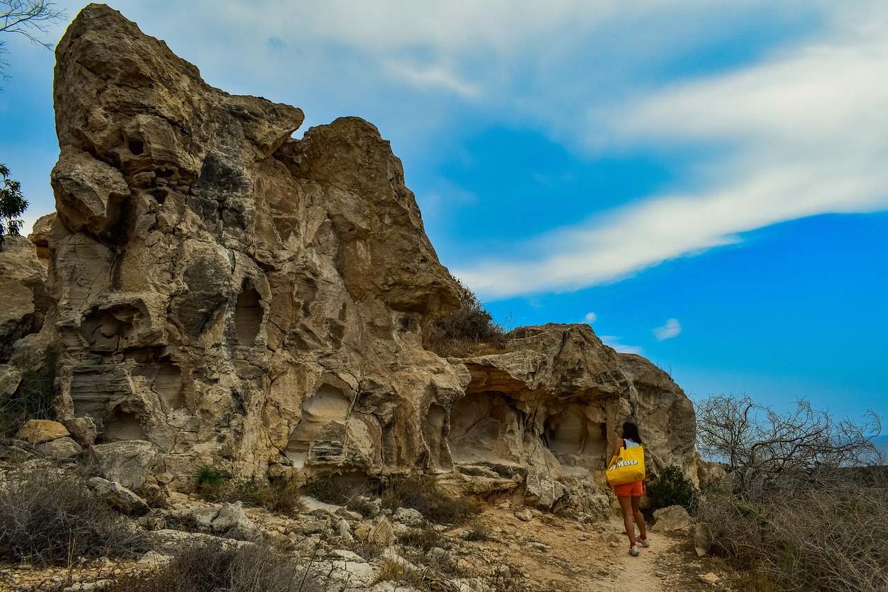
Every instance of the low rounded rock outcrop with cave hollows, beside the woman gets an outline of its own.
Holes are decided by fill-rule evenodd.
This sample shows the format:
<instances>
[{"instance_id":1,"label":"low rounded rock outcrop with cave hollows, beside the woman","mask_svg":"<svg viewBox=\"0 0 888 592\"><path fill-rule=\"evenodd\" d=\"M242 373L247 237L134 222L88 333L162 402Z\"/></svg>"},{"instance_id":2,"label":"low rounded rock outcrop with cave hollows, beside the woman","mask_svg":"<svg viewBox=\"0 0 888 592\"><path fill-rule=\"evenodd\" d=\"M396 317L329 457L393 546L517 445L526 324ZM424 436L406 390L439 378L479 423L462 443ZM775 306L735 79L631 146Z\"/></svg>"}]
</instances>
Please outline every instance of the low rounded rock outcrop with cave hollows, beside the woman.
<instances>
[{"instance_id":1,"label":"low rounded rock outcrop with cave hollows, beside the woman","mask_svg":"<svg viewBox=\"0 0 888 592\"><path fill-rule=\"evenodd\" d=\"M516 351L463 361L471 376L451 412L448 444L464 470L526 471L527 492L551 507L562 483L599 484L622 422L638 423L654 473L694 467L694 408L666 372L605 346L586 324L520 327ZM575 488L579 489L579 488Z\"/></svg>"}]
</instances>

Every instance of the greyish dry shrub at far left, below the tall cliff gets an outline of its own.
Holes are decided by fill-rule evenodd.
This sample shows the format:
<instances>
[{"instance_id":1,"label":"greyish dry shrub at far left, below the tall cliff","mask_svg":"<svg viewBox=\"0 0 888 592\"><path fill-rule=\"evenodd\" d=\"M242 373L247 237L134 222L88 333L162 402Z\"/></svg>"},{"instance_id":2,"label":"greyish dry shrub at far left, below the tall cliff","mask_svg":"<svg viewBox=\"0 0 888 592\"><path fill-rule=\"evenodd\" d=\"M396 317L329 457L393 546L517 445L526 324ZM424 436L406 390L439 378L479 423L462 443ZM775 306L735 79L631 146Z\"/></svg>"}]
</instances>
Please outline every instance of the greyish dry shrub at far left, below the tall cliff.
<instances>
[{"instance_id":1,"label":"greyish dry shrub at far left, below the tall cliff","mask_svg":"<svg viewBox=\"0 0 888 592\"><path fill-rule=\"evenodd\" d=\"M0 556L14 562L70 564L78 557L131 557L144 534L97 498L82 476L31 471L0 483Z\"/></svg>"}]
</instances>

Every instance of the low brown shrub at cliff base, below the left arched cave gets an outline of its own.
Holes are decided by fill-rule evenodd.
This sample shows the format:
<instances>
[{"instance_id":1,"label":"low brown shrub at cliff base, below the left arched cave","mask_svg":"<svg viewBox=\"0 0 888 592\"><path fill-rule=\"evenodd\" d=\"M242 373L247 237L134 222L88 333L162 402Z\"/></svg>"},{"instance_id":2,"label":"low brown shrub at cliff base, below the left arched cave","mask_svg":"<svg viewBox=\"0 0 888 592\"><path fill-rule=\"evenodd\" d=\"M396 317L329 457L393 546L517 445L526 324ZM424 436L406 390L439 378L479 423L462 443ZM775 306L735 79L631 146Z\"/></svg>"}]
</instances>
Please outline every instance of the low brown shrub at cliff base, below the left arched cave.
<instances>
[{"instance_id":1,"label":"low brown shrub at cliff base, below the left arched cave","mask_svg":"<svg viewBox=\"0 0 888 592\"><path fill-rule=\"evenodd\" d=\"M462 524L481 513L478 500L451 496L433 477L395 477L385 488L382 500L385 508L413 508L438 524Z\"/></svg>"}]
</instances>

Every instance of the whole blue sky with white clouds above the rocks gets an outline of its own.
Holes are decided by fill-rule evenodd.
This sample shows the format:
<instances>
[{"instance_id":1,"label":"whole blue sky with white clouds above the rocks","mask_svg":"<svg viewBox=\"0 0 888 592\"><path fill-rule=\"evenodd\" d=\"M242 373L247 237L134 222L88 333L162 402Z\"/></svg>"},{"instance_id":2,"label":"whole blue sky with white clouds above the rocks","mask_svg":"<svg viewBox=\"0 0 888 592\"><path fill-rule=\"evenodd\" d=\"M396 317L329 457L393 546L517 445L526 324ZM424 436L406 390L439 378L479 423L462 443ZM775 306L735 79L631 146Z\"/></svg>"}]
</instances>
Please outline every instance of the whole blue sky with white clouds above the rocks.
<instances>
[{"instance_id":1,"label":"whole blue sky with white clouds above the rocks","mask_svg":"<svg viewBox=\"0 0 888 592\"><path fill-rule=\"evenodd\" d=\"M376 124L497 320L589 322L695 399L888 417L888 4L111 5L303 129ZM0 162L30 223L53 209L53 59L5 41Z\"/></svg>"}]
</instances>

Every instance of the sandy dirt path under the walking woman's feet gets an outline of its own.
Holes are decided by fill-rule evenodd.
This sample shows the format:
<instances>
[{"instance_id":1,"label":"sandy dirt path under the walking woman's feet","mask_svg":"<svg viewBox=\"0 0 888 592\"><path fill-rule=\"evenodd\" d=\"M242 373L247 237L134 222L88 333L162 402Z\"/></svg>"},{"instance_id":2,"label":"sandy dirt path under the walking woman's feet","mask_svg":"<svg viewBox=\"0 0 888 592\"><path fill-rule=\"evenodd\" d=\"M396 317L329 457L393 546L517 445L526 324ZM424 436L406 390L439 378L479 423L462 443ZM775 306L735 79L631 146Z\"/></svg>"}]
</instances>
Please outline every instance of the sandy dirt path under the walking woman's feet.
<instances>
[{"instance_id":1,"label":"sandy dirt path under the walking woman's feet","mask_svg":"<svg viewBox=\"0 0 888 592\"><path fill-rule=\"evenodd\" d=\"M488 509L480 522L496 540L478 543L481 556L510 564L540 592L674 592L712 590L700 580L710 572L685 536L651 532L649 548L629 555L622 521L578 524L552 516L523 522L511 509ZM724 582L718 586L725 590Z\"/></svg>"}]
</instances>

